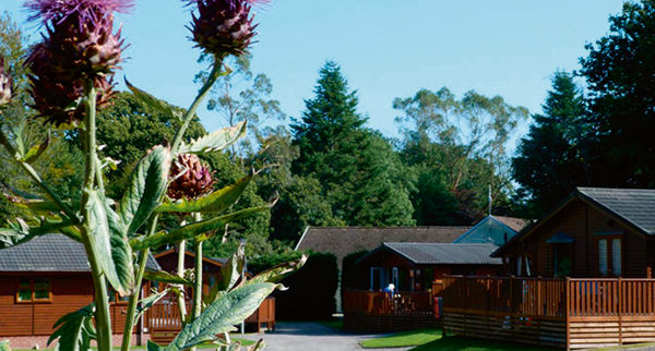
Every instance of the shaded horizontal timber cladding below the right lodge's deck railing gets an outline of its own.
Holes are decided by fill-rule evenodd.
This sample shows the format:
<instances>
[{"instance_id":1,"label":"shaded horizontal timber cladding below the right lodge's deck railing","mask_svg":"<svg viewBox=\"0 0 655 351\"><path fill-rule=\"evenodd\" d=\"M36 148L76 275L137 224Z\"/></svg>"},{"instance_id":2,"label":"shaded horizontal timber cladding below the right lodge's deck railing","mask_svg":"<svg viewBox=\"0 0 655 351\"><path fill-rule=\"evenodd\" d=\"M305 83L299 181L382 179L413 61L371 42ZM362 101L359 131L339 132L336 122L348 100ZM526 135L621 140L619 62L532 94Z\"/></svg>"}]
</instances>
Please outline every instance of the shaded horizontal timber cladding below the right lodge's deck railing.
<instances>
[{"instance_id":1,"label":"shaded horizontal timber cladding below the right lodge's deck railing","mask_svg":"<svg viewBox=\"0 0 655 351\"><path fill-rule=\"evenodd\" d=\"M463 337L539 347L567 348L564 320L531 319L500 314L443 313L445 332Z\"/></svg>"}]
</instances>

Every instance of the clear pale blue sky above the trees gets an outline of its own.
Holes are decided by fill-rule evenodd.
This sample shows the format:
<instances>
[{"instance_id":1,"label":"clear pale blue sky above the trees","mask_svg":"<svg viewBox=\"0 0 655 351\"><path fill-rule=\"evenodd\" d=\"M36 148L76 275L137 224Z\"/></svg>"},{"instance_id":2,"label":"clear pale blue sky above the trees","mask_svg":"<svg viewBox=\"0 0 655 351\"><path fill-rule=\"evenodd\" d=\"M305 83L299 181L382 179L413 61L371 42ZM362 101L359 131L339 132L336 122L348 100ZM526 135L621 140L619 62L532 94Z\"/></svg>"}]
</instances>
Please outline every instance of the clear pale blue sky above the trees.
<instances>
[{"instance_id":1,"label":"clear pale blue sky above the trees","mask_svg":"<svg viewBox=\"0 0 655 351\"><path fill-rule=\"evenodd\" d=\"M608 33L608 17L622 0L273 0L257 10L259 43L252 71L267 74L274 98L290 117L313 97L318 70L335 60L358 90L359 112L369 125L397 136L394 97L448 86L457 97L475 89L500 95L538 113L557 70L579 69L584 45ZM20 0L2 0L23 22ZM131 46L122 75L178 106L188 106L203 66L184 27L190 13L181 1L141 0L121 15ZM27 33L37 38L34 26ZM223 125L201 110L209 130ZM519 134L527 130L527 121Z\"/></svg>"}]
</instances>

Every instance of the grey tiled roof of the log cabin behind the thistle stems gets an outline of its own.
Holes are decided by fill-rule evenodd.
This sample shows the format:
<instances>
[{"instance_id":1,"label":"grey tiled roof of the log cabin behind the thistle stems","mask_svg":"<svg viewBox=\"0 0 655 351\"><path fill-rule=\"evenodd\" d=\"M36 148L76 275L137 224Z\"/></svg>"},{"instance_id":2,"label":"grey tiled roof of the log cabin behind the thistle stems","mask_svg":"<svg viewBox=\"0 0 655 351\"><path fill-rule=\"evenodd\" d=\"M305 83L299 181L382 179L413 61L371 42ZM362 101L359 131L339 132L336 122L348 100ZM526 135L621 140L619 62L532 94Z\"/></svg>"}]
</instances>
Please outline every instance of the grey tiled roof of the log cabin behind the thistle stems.
<instances>
[{"instance_id":1,"label":"grey tiled roof of the log cabin behind the thistle stems","mask_svg":"<svg viewBox=\"0 0 655 351\"><path fill-rule=\"evenodd\" d=\"M160 269L153 255L146 266ZM17 246L0 250L0 271L91 271L84 245L62 234L46 234Z\"/></svg>"}]
</instances>

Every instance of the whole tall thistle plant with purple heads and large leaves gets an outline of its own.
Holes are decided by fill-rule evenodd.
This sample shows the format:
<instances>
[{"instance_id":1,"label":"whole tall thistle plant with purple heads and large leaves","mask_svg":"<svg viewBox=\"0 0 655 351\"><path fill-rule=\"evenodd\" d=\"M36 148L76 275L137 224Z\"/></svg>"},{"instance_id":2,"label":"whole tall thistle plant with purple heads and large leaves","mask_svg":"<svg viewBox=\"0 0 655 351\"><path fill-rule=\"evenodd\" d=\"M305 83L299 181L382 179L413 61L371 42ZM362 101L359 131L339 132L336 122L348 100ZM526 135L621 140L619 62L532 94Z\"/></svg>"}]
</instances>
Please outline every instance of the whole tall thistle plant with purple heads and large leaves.
<instances>
[{"instance_id":1,"label":"whole tall thistle plant with purple heads and large leaves","mask_svg":"<svg viewBox=\"0 0 655 351\"><path fill-rule=\"evenodd\" d=\"M245 250L240 246L223 267L223 281L217 282L206 296L201 295L200 275L191 281L163 271L145 271L152 247L192 239L196 250L201 250L202 242L216 229L272 206L230 211L255 174L216 191L212 173L196 160L195 155L221 152L243 137L245 122L198 140L184 138L198 107L218 76L225 74L222 72L223 60L230 55L241 55L252 43L257 25L252 24L251 5L262 1L186 2L196 7L192 38L214 58L212 73L184 113L177 113L167 104L126 82L144 104L169 116L170 123L177 126L177 134L170 143L164 141L143 156L128 177L122 197L117 199L105 193L104 173L107 170L100 161L102 141L96 140L96 110L110 104L112 76L119 69L126 47L120 29L115 28L114 14L128 12L133 7L132 0L28 0L25 3L32 12L29 20L45 26L43 40L33 46L25 62L32 72L31 107L47 125L76 129L85 155L84 184L81 198L66 198L64 194L56 193L48 180L31 166L47 148L47 141L27 148L26 145L34 142L26 135L8 134L0 125L0 144L43 193L16 191L9 197L28 209L31 216L16 218L10 228L0 229L0 249L52 232L60 232L84 245L95 298L92 304L57 322L50 341L58 339L59 350L90 350L92 340L96 340L98 350L111 350L109 286L120 295L129 296L121 346L122 350L129 350L138 316L168 293L165 290L140 296L144 278L196 288L194 318L186 320L186 326L169 346L164 348L150 342L148 350L177 351L203 344L238 350L240 346L230 342L227 332L251 315L273 290L282 288L278 281L285 275L305 263L306 257L302 257L252 279L243 279ZM0 113L2 105L11 98L11 76L0 64ZM192 215L194 220L178 228L159 230L157 221L163 213ZM209 219L201 215L207 215ZM198 256L202 258L202 252Z\"/></svg>"}]
</instances>

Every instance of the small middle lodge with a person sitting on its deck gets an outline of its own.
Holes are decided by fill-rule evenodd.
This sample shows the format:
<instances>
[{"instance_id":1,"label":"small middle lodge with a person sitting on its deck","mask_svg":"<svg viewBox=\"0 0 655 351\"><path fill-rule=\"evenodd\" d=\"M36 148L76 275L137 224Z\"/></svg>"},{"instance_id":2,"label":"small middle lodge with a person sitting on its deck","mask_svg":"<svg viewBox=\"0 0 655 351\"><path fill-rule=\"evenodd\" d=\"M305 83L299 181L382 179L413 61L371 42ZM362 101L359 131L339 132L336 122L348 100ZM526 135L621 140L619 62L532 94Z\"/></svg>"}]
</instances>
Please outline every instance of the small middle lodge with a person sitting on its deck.
<instances>
[{"instance_id":1,"label":"small middle lodge with a person sitting on its deck","mask_svg":"<svg viewBox=\"0 0 655 351\"><path fill-rule=\"evenodd\" d=\"M344 328L389 332L437 323L439 281L450 274L497 275L500 258L492 244L383 243L356 264L368 268L368 290L344 290ZM384 292L389 285L394 292Z\"/></svg>"}]
</instances>

